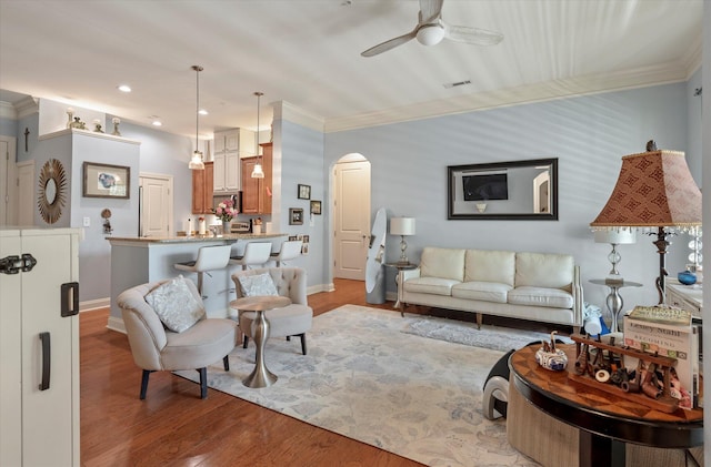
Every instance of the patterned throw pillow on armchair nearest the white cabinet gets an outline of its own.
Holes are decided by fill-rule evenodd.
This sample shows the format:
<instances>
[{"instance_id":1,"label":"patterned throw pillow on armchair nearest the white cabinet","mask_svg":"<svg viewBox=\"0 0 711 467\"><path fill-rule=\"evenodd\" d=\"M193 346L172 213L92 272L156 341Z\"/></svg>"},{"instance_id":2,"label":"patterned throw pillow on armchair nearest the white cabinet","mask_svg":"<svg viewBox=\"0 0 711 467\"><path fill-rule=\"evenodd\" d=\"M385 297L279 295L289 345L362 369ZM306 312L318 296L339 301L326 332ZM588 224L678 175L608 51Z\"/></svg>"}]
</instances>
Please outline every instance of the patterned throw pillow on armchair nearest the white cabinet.
<instances>
[{"instance_id":1,"label":"patterned throw pillow on armchair nearest the white cabinet","mask_svg":"<svg viewBox=\"0 0 711 467\"><path fill-rule=\"evenodd\" d=\"M153 288L146 295L146 302L151 305L166 327L176 333L192 327L204 316L202 301L198 300L183 276Z\"/></svg>"}]
</instances>

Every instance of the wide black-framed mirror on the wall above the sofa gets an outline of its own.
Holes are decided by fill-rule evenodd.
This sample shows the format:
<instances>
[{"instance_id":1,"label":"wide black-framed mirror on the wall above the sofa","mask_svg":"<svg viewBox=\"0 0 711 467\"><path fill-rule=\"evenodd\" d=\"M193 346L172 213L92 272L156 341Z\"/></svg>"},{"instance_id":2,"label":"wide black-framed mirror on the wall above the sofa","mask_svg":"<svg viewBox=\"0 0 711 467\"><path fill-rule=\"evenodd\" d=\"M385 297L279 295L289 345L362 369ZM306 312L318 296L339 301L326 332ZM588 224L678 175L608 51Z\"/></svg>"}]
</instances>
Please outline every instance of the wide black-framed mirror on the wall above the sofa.
<instances>
[{"instance_id":1,"label":"wide black-framed mirror on the wall above the sofa","mask_svg":"<svg viewBox=\"0 0 711 467\"><path fill-rule=\"evenodd\" d=\"M449 220L558 221L558 159L449 165Z\"/></svg>"}]
</instances>

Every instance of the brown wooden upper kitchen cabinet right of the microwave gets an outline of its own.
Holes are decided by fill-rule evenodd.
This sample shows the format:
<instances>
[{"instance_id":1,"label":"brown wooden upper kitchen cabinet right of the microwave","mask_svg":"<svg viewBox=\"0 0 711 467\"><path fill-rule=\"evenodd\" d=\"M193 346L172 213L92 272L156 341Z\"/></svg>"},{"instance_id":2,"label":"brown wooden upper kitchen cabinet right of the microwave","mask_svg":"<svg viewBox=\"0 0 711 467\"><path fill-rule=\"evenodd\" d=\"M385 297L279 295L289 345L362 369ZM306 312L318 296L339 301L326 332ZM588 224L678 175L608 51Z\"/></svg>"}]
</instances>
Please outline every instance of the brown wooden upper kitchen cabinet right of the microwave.
<instances>
[{"instance_id":1,"label":"brown wooden upper kitchen cabinet right of the microwave","mask_svg":"<svg viewBox=\"0 0 711 467\"><path fill-rule=\"evenodd\" d=\"M272 143L262 143L261 156L242 159L242 213L271 214ZM254 164L261 163L263 179L252 179Z\"/></svg>"}]
</instances>

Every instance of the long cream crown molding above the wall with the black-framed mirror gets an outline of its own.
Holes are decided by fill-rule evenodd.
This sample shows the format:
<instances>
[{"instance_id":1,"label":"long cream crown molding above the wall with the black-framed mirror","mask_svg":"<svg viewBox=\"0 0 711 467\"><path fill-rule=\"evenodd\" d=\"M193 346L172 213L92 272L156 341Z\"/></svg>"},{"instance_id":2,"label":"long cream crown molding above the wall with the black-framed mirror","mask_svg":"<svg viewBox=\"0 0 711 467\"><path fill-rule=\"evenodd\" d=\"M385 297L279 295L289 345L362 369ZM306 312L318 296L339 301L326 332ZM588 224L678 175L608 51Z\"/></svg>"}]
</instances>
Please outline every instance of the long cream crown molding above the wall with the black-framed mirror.
<instances>
[{"instance_id":1,"label":"long cream crown molding above the wall with the black-framed mirror","mask_svg":"<svg viewBox=\"0 0 711 467\"><path fill-rule=\"evenodd\" d=\"M698 52L700 61L700 48ZM690 52L685 61L692 62L694 57L694 52ZM324 131L326 133L332 133L448 114L669 84L688 80L688 75L690 74L688 64L689 63L673 61L653 67L624 70L617 73L589 74L553 80L517 88L460 95L447 100L422 102L378 112L361 113L359 115L334 118L327 120Z\"/></svg>"}]
</instances>

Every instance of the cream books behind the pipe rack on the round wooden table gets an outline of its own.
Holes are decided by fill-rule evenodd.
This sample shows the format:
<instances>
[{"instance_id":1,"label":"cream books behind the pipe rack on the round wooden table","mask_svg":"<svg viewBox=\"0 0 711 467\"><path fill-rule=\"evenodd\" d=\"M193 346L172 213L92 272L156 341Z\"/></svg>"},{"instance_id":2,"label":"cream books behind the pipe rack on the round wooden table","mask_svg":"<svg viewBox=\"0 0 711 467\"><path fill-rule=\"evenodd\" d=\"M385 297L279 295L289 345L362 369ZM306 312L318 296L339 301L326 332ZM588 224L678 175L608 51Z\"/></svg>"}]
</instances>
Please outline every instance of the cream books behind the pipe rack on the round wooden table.
<instances>
[{"instance_id":1,"label":"cream books behind the pipe rack on the round wooden table","mask_svg":"<svg viewBox=\"0 0 711 467\"><path fill-rule=\"evenodd\" d=\"M682 408L702 406L699 373L700 329L691 313L669 306L637 306L624 317L624 345L677 359L671 393ZM630 368L637 362L627 362ZM675 375L674 375L675 374ZM675 377L674 377L675 376Z\"/></svg>"}]
</instances>

